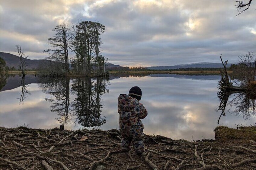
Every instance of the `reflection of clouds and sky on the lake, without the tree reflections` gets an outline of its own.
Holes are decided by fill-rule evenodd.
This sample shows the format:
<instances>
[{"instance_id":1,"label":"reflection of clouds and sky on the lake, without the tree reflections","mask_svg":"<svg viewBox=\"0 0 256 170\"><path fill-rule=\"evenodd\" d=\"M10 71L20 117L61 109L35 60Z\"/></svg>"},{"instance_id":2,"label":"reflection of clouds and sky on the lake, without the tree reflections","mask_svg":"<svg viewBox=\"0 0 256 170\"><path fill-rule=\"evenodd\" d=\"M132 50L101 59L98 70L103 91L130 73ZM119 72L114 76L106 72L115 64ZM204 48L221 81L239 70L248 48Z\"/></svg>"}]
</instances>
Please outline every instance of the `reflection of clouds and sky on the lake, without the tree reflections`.
<instances>
[{"instance_id":1,"label":"reflection of clouds and sky on the lake, without the tree reflections","mask_svg":"<svg viewBox=\"0 0 256 170\"><path fill-rule=\"evenodd\" d=\"M217 98L216 76L200 76L189 78L175 77L118 77L109 80L107 86L109 93L102 94L101 104L102 116L106 117L106 123L101 125L102 129L119 128L117 113L117 97L119 94L128 93L133 86L142 89L141 103L147 108L148 116L142 120L146 134L161 134L173 139L214 138L213 129L218 125L219 112L215 109L219 104ZM38 80L37 80L38 81ZM40 83L40 82L38 82ZM40 84L39 84L40 85ZM51 103L44 100L53 95L43 93L36 83L30 84L23 105L19 105L17 96L20 88L0 92L0 126L16 127L17 125L28 125L33 128L59 127L61 122L57 121L58 115L50 111ZM70 81L70 88L72 81ZM70 92L70 102L75 100L76 93ZM244 121L240 117L227 114L222 118L221 125L236 127L236 124L250 125L255 122L255 117ZM66 129L82 128L75 124L75 120L66 124Z\"/></svg>"}]
</instances>

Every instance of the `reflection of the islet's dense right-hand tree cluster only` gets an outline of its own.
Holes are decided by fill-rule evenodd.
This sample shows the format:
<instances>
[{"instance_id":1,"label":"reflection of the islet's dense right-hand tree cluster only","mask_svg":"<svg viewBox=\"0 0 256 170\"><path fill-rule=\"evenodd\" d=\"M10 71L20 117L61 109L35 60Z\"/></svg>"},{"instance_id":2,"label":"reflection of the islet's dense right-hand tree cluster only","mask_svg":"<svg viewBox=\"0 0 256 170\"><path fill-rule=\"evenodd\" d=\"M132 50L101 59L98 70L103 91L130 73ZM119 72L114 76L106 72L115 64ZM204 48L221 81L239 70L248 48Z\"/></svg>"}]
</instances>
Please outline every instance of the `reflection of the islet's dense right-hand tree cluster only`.
<instances>
[{"instance_id":1,"label":"reflection of the islet's dense right-hand tree cluster only","mask_svg":"<svg viewBox=\"0 0 256 170\"><path fill-rule=\"evenodd\" d=\"M101 126L106 123L106 117L101 117L101 96L109 92L107 82L107 79L102 77L76 78L73 81L72 90L77 97L72 102L72 107L77 115L77 123L84 127Z\"/></svg>"}]
</instances>

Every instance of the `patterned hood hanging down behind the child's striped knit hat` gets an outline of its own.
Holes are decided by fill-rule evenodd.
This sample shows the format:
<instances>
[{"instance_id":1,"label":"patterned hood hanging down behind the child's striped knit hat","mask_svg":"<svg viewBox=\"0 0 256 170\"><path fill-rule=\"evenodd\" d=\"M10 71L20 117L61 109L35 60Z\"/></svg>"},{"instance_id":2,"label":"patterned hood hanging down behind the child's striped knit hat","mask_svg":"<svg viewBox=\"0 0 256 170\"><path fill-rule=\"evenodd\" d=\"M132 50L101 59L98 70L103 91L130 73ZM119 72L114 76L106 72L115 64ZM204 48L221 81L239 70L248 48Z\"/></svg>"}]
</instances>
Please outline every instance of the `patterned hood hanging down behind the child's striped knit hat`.
<instances>
[{"instance_id":1,"label":"patterned hood hanging down behind the child's striped knit hat","mask_svg":"<svg viewBox=\"0 0 256 170\"><path fill-rule=\"evenodd\" d=\"M139 101L127 94L120 94L118 97L118 107L122 111L133 110L137 104L139 104Z\"/></svg>"}]
</instances>

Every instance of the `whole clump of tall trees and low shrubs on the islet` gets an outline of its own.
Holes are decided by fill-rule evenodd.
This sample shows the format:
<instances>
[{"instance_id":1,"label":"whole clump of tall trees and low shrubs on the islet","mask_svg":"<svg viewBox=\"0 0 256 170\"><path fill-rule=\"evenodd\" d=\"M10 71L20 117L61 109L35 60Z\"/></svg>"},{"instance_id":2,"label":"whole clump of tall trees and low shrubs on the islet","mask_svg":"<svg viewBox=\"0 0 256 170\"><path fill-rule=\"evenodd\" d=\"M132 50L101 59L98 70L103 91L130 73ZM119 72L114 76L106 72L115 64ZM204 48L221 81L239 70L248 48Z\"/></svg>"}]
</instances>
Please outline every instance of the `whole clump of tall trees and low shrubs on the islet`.
<instances>
[{"instance_id":1,"label":"whole clump of tall trees and low shrubs on the islet","mask_svg":"<svg viewBox=\"0 0 256 170\"><path fill-rule=\"evenodd\" d=\"M63 23L57 25L53 31L55 35L48 39L50 48L43 52L50 54L48 60L56 62L43 64L40 67L41 75L108 75L105 68L108 58L101 55L104 25L91 21L80 21L72 26ZM71 58L70 52L75 53L75 57Z\"/></svg>"}]
</instances>

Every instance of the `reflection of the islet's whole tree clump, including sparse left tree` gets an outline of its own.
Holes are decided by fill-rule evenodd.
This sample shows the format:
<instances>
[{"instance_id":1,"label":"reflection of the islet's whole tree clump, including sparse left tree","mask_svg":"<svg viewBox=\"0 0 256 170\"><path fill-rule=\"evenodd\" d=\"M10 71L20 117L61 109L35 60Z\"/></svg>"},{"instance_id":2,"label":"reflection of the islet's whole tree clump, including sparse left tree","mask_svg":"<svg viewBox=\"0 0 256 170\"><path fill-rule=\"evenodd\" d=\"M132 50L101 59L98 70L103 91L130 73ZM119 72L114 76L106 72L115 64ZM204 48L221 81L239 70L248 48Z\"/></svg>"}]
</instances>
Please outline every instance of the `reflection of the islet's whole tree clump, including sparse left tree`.
<instances>
[{"instance_id":1,"label":"reflection of the islet's whole tree clump, including sparse left tree","mask_svg":"<svg viewBox=\"0 0 256 170\"><path fill-rule=\"evenodd\" d=\"M52 104L50 110L56 112L61 123L76 123L84 127L101 126L106 117L101 117L101 96L108 92L107 79L102 77L46 77L39 87L54 97L45 98ZM70 86L71 82L71 86ZM71 101L70 94L75 95Z\"/></svg>"}]
</instances>

